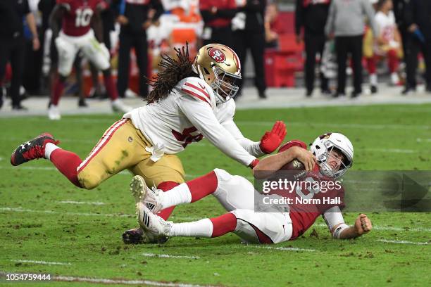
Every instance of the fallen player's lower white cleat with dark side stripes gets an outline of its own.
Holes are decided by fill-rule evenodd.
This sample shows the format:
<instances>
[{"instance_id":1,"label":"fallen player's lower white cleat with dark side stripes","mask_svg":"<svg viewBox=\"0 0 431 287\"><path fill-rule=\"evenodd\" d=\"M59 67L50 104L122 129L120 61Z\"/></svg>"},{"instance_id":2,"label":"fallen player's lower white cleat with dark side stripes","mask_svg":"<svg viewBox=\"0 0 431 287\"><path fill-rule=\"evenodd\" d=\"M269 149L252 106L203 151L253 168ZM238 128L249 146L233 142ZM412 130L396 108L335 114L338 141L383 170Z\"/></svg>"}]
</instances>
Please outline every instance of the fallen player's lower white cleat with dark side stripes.
<instances>
[{"instance_id":1,"label":"fallen player's lower white cleat with dark side stripes","mask_svg":"<svg viewBox=\"0 0 431 287\"><path fill-rule=\"evenodd\" d=\"M165 243L168 241L171 228L170 222L165 222L163 218L155 215L146 208L144 203L136 204L136 213L139 225L144 229L146 236L151 238L152 242Z\"/></svg>"}]
</instances>

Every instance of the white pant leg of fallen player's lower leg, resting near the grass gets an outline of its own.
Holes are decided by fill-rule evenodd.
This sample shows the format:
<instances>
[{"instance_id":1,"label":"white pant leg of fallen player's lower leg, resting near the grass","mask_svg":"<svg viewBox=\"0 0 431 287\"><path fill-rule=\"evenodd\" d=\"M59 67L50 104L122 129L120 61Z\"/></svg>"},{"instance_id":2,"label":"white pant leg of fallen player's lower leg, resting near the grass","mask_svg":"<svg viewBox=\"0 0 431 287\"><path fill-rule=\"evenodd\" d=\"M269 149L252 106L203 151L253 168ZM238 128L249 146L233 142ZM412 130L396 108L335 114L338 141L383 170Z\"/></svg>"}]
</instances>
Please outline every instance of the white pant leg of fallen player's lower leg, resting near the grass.
<instances>
[{"instance_id":1,"label":"white pant leg of fallen player's lower leg, resting near the grass","mask_svg":"<svg viewBox=\"0 0 431 287\"><path fill-rule=\"evenodd\" d=\"M292 219L287 212L233 210L231 213L237 217L235 234L247 243L260 243L255 229L266 234L273 243L288 241L292 236Z\"/></svg>"}]
</instances>

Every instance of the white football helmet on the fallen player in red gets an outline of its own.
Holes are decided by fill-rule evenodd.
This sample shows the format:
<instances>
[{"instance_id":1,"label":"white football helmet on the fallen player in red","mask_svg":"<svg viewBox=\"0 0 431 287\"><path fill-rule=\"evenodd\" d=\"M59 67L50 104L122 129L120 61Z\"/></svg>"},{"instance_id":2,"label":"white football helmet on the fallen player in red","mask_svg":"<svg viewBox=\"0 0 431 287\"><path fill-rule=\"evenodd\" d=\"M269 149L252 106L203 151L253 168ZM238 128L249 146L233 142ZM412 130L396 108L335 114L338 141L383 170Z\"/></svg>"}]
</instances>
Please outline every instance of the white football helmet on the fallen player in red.
<instances>
[{"instance_id":1,"label":"white football helmet on the fallen player in red","mask_svg":"<svg viewBox=\"0 0 431 287\"><path fill-rule=\"evenodd\" d=\"M327 159L331 156L330 151L332 148L337 148L346 157L346 160L342 162L339 170L332 171L332 168L327 164ZM349 139L343 134L336 132L323 134L318 136L317 139L311 144L310 151L313 155L316 155L318 164L320 166L320 172L327 176L337 179L349 170L353 164L354 148Z\"/></svg>"}]
</instances>

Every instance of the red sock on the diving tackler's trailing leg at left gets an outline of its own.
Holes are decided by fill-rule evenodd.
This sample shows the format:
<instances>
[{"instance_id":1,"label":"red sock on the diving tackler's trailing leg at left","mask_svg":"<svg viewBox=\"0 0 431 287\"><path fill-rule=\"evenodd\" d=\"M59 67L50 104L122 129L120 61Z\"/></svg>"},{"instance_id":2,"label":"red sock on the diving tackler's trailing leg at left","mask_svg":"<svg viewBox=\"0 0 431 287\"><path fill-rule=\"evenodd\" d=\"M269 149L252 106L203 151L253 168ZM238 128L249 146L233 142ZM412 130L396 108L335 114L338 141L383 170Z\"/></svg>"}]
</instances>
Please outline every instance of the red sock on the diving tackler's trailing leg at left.
<instances>
[{"instance_id":1,"label":"red sock on the diving tackler's trailing leg at left","mask_svg":"<svg viewBox=\"0 0 431 287\"><path fill-rule=\"evenodd\" d=\"M82 160L79 156L71 151L65 151L61 148L57 148L53 151L49 157L51 162L57 167L70 182L75 184L77 187L82 187L80 181L77 179L77 167L80 166Z\"/></svg>"}]
</instances>

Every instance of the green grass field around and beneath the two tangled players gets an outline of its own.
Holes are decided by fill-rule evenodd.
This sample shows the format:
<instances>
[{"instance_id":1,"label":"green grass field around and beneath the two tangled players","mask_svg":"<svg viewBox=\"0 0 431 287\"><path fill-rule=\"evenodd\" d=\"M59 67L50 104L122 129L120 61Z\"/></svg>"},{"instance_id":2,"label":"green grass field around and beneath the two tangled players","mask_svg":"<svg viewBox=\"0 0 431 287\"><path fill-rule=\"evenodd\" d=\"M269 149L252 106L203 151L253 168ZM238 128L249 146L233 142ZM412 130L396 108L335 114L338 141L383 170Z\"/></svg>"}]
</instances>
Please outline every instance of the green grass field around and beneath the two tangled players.
<instances>
[{"instance_id":1,"label":"green grass field around and beneath the two tangled players","mask_svg":"<svg viewBox=\"0 0 431 287\"><path fill-rule=\"evenodd\" d=\"M353 170L431 170L430 110L431 105L239 110L235 120L244 135L256 141L275 120L286 122L287 139L307 143L324 132L342 132L355 147ZM0 119L0 272L148 280L150 285L156 281L216 286L431 285L430 213L373 212L368 216L375 229L349 241L332 239L318 219L301 238L271 246L244 245L234 234L124 245L123 230L137 225L128 191L130 174L123 172L86 191L75 188L47 160L20 167L9 163L18 144L45 131L61 140L61 147L85 158L118 117L65 116L60 122L45 117ZM188 179L215 167L251 176L249 169L205 140L188 146L180 158ZM171 218L184 222L223 212L208 197L176 208ZM353 223L355 217L349 213L345 218ZM41 264L46 262L57 264ZM0 281L0 286L6 283Z\"/></svg>"}]
</instances>

